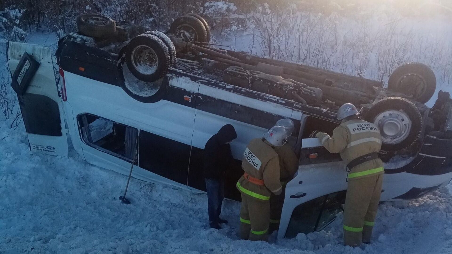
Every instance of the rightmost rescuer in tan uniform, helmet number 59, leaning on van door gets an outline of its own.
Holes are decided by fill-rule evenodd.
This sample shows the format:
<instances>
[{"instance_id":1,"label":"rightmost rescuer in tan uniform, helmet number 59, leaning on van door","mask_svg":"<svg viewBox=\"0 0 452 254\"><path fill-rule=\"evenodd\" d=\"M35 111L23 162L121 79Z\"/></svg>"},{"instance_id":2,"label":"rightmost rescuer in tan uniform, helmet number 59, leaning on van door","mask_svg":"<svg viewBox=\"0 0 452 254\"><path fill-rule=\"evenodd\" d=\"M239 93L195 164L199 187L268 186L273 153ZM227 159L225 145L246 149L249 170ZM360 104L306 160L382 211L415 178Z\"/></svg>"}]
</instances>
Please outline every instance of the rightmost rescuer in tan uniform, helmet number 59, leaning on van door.
<instances>
[{"instance_id":1,"label":"rightmost rescuer in tan uniform, helmet number 59, leaning on van door","mask_svg":"<svg viewBox=\"0 0 452 254\"><path fill-rule=\"evenodd\" d=\"M319 138L331 153L339 153L346 162L348 187L344 207L344 244L360 246L370 243L377 216L383 181L383 162L378 158L381 135L377 126L359 118L351 103L339 108L342 123L333 136L319 132Z\"/></svg>"}]
</instances>

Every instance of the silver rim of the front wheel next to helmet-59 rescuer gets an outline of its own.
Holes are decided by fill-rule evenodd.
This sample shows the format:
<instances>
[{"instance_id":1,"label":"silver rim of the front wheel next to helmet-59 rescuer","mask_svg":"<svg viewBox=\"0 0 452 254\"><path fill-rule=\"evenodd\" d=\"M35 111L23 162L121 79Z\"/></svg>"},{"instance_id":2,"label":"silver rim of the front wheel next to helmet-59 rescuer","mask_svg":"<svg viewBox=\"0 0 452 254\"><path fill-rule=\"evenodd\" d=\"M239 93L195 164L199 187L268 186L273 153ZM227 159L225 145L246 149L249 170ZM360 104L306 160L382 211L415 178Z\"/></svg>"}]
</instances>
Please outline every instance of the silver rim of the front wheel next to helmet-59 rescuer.
<instances>
[{"instance_id":1,"label":"silver rim of the front wheel next to helmet-59 rescuer","mask_svg":"<svg viewBox=\"0 0 452 254\"><path fill-rule=\"evenodd\" d=\"M377 115L374 123L381 133L381 140L385 144L399 144L409 135L412 122L408 115L398 110L388 110Z\"/></svg>"}]
</instances>

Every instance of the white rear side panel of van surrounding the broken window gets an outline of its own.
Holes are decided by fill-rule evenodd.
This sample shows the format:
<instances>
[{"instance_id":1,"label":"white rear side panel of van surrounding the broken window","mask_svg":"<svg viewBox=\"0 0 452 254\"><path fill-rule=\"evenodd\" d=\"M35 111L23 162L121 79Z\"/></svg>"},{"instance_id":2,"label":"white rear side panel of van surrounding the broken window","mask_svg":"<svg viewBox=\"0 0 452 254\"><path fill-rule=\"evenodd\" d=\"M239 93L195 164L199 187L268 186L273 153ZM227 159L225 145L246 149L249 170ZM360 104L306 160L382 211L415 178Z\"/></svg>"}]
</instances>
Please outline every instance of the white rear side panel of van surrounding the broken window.
<instances>
[{"instance_id":1,"label":"white rear side panel of van surrounding the broken window","mask_svg":"<svg viewBox=\"0 0 452 254\"><path fill-rule=\"evenodd\" d=\"M77 124L77 115L90 113L114 122L155 133L190 145L193 135L195 109L161 100L156 103L141 103L127 96L121 87L91 80L65 71L67 102L66 111L74 148L93 165L111 169L120 174L129 174L131 163L85 144ZM171 80L178 82L179 79ZM197 91L199 84L183 79L184 88ZM102 88L101 90L99 88ZM99 96L99 91L102 96ZM105 99L108 98L108 99ZM102 107L99 107L102 105ZM132 110L133 109L133 110ZM69 111L71 113L69 113ZM203 148L203 147L202 147ZM177 158L175 158L177 160ZM135 165L132 176L151 183L164 183L179 188L181 184Z\"/></svg>"}]
</instances>

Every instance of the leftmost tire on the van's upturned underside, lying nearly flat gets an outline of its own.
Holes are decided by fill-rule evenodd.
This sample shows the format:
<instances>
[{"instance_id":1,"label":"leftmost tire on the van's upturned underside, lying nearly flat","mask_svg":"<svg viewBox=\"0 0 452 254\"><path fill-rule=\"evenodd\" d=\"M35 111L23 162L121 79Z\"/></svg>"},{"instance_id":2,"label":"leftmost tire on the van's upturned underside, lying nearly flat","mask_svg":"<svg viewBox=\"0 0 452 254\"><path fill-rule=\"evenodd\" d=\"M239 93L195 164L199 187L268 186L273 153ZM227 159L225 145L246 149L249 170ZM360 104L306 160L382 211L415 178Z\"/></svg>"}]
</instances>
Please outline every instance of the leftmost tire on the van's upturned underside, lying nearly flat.
<instances>
[{"instance_id":1,"label":"leftmost tire on the van's upturned underside, lying nearly flat","mask_svg":"<svg viewBox=\"0 0 452 254\"><path fill-rule=\"evenodd\" d=\"M83 14L77 17L77 28L83 35L94 38L108 38L116 32L113 19L97 14Z\"/></svg>"}]
</instances>

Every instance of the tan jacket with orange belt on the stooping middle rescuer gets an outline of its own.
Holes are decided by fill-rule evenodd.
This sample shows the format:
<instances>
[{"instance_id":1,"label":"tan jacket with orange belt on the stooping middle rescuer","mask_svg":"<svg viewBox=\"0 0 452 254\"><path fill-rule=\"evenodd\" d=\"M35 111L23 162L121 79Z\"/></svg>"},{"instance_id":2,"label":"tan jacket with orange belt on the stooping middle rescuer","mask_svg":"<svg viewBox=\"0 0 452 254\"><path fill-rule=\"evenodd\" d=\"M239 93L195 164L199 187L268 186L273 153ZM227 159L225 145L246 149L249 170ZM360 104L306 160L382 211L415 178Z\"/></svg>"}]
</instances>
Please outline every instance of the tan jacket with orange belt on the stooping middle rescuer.
<instances>
[{"instance_id":1,"label":"tan jacket with orange belt on the stooping middle rescuer","mask_svg":"<svg viewBox=\"0 0 452 254\"><path fill-rule=\"evenodd\" d=\"M237 182L240 192L264 201L270 199L271 193L281 193L278 154L267 142L259 138L250 141L243 155L242 169L251 177L263 179L264 185L258 185L245 177L240 177Z\"/></svg>"}]
</instances>

